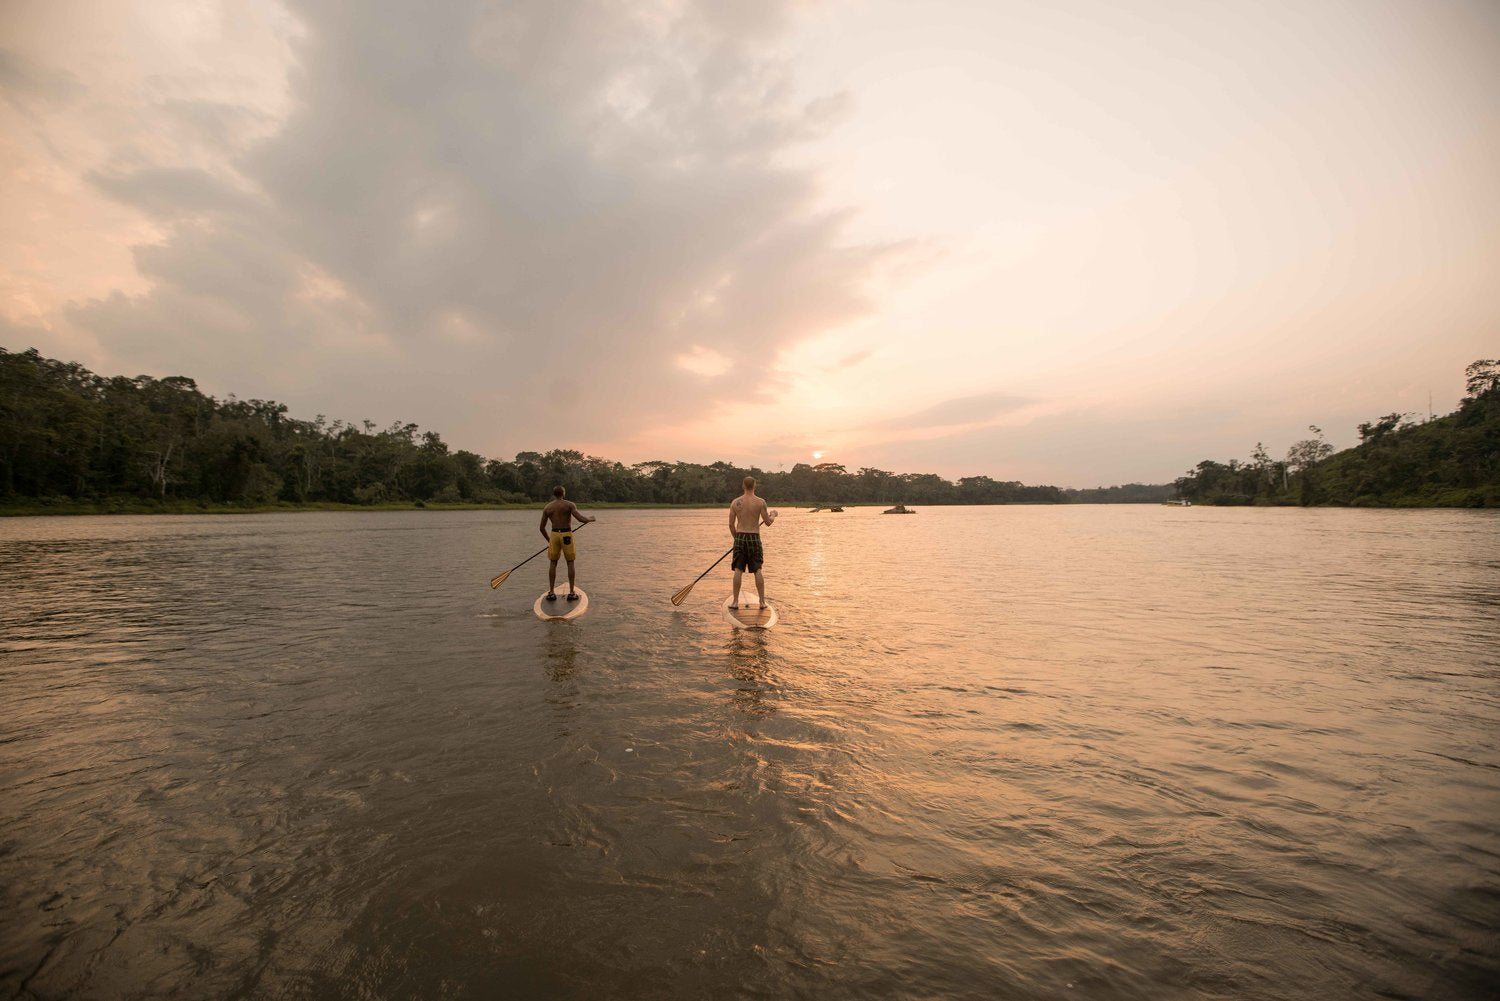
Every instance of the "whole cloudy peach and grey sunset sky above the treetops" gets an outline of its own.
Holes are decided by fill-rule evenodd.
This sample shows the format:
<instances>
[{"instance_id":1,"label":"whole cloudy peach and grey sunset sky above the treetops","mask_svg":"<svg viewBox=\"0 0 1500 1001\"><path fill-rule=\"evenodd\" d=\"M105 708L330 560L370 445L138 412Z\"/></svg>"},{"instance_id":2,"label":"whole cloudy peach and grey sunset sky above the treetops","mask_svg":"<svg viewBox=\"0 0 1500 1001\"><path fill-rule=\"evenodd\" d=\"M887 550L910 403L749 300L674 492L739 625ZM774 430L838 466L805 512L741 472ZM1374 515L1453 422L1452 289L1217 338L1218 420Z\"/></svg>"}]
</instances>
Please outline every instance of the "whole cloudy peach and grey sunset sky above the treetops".
<instances>
[{"instance_id":1,"label":"whole cloudy peach and grey sunset sky above the treetops","mask_svg":"<svg viewBox=\"0 0 1500 1001\"><path fill-rule=\"evenodd\" d=\"M0 3L0 347L490 458L1167 482L1497 273L1492 0Z\"/></svg>"}]
</instances>

